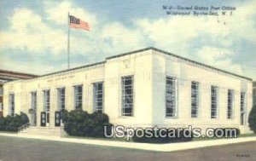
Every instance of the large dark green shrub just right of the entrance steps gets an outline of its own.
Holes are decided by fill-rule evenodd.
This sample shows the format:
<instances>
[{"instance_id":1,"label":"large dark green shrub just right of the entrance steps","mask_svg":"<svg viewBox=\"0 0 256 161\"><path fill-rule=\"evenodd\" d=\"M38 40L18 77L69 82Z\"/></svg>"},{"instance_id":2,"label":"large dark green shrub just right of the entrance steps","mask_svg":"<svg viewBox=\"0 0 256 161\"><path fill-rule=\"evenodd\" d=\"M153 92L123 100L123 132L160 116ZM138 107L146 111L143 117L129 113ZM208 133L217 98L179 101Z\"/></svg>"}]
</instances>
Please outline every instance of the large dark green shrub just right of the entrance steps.
<instances>
[{"instance_id":1,"label":"large dark green shrub just right of the entrance steps","mask_svg":"<svg viewBox=\"0 0 256 161\"><path fill-rule=\"evenodd\" d=\"M112 125L109 124L108 115L98 112L89 114L82 110L62 112L62 121L67 134L76 136L103 137L104 126Z\"/></svg>"}]
</instances>

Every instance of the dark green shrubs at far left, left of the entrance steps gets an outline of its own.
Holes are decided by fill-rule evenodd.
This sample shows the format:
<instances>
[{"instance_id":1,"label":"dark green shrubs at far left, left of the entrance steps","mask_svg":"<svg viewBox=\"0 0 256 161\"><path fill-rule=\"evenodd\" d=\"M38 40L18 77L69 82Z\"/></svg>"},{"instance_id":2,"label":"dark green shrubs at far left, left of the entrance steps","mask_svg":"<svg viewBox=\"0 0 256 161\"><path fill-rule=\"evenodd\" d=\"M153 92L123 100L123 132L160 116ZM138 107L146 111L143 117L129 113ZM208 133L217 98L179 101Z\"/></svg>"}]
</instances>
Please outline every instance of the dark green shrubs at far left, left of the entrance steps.
<instances>
[{"instance_id":1,"label":"dark green shrubs at far left, left of the entrance steps","mask_svg":"<svg viewBox=\"0 0 256 161\"><path fill-rule=\"evenodd\" d=\"M15 114L14 117L7 116L6 118L0 118L0 130L3 131L18 131L19 127L29 122L26 113L20 112Z\"/></svg>"}]
</instances>

